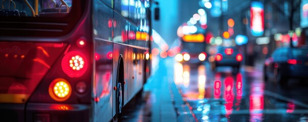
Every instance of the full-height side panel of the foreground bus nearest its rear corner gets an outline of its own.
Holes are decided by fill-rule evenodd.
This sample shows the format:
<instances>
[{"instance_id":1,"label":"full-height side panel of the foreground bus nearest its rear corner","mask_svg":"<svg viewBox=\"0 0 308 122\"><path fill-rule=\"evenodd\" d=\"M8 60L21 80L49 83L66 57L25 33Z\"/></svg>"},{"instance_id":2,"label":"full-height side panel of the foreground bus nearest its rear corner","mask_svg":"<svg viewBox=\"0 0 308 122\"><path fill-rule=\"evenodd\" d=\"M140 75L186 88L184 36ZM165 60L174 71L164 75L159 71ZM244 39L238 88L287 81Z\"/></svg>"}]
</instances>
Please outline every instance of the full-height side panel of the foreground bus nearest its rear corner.
<instances>
[{"instance_id":1,"label":"full-height side panel of the foreground bus nearest its rear corner","mask_svg":"<svg viewBox=\"0 0 308 122\"><path fill-rule=\"evenodd\" d=\"M114 115L112 20L113 10L101 1L94 1L93 121L109 121Z\"/></svg>"}]
</instances>

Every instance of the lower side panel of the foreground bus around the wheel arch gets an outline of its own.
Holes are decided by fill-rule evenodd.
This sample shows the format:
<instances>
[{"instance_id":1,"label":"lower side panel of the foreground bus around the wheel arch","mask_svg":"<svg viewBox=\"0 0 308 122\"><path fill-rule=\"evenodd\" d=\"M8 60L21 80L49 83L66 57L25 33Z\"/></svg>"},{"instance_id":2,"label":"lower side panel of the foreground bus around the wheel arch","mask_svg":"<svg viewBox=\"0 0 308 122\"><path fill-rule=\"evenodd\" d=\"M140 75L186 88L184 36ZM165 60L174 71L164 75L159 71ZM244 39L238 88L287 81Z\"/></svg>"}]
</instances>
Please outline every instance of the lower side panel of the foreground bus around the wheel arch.
<instances>
[{"instance_id":1,"label":"lower side panel of the foreground bus around the wheel arch","mask_svg":"<svg viewBox=\"0 0 308 122\"><path fill-rule=\"evenodd\" d=\"M145 62L143 54L146 50L139 49L137 47L132 47L122 44L114 44L114 66L113 69L119 67L119 58L123 56L124 61L124 104L129 102L139 90L143 87L144 82L144 69ZM113 85L116 84L116 74L117 71L113 71ZM114 91L115 94L115 91ZM114 97L115 100L115 97ZM115 105L115 102L114 102Z\"/></svg>"}]
</instances>

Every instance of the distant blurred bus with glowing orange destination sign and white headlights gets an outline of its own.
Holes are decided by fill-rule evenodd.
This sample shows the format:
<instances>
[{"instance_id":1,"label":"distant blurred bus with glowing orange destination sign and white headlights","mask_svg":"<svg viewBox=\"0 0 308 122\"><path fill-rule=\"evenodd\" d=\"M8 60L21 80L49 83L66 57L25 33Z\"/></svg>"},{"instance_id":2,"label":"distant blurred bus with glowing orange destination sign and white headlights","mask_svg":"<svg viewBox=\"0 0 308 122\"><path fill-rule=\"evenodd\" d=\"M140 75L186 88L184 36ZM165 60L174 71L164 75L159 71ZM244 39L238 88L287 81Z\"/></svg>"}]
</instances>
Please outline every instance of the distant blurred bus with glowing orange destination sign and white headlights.
<instances>
[{"instance_id":1,"label":"distant blurred bus with glowing orange destination sign and white headlights","mask_svg":"<svg viewBox=\"0 0 308 122\"><path fill-rule=\"evenodd\" d=\"M203 33L184 35L180 40L181 53L176 55L176 60L178 62L184 64L202 64L202 62L206 60L206 43Z\"/></svg>"}]
</instances>

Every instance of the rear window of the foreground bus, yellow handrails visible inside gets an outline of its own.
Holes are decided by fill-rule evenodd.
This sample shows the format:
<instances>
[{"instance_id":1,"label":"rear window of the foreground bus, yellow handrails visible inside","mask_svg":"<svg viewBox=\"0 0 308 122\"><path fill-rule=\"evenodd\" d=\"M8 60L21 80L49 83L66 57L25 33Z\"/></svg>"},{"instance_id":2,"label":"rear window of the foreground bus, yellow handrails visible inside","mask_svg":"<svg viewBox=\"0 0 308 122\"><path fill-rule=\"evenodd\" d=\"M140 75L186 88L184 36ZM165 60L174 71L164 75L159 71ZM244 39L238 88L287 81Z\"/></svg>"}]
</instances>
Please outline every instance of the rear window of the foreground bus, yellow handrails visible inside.
<instances>
[{"instance_id":1,"label":"rear window of the foreground bus, yellow handrails visible inside","mask_svg":"<svg viewBox=\"0 0 308 122\"><path fill-rule=\"evenodd\" d=\"M63 17L73 7L73 0L4 0L2 17Z\"/></svg>"}]
</instances>

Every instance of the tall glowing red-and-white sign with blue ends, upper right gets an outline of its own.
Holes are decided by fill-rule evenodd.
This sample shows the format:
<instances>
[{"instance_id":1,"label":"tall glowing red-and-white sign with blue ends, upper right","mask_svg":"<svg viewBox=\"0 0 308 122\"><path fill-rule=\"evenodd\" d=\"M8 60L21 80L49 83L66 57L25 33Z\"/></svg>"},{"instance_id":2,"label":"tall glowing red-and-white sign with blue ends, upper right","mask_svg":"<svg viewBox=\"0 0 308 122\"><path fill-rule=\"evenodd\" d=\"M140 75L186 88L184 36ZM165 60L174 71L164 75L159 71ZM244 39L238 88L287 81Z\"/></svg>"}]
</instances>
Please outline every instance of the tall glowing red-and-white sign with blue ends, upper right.
<instances>
[{"instance_id":1,"label":"tall glowing red-and-white sign with blue ends, upper right","mask_svg":"<svg viewBox=\"0 0 308 122\"><path fill-rule=\"evenodd\" d=\"M262 36L264 33L264 8L261 2L251 2L250 30L252 36Z\"/></svg>"}]
</instances>

